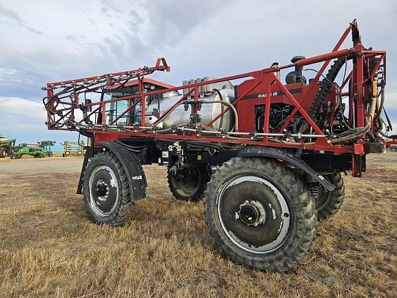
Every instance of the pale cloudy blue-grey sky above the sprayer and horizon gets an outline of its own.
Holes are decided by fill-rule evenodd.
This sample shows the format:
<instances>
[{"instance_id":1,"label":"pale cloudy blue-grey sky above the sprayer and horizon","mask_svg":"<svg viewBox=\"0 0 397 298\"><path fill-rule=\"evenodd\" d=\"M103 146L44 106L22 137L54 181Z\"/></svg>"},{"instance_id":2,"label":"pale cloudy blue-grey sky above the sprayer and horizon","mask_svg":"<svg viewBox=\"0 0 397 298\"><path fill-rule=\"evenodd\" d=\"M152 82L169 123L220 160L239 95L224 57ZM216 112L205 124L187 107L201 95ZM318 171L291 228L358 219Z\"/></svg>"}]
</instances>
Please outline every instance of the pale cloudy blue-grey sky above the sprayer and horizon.
<instances>
[{"instance_id":1,"label":"pale cloudy blue-grey sky above the sprayer and horizon","mask_svg":"<svg viewBox=\"0 0 397 298\"><path fill-rule=\"evenodd\" d=\"M382 5L380 5L382 3ZM387 50L385 108L397 130L397 1L0 0L0 135L77 140L47 130L41 86L153 66L174 85L329 52L357 19L363 44ZM350 37L342 48L351 47ZM313 74L314 76L314 74Z\"/></svg>"}]
</instances>

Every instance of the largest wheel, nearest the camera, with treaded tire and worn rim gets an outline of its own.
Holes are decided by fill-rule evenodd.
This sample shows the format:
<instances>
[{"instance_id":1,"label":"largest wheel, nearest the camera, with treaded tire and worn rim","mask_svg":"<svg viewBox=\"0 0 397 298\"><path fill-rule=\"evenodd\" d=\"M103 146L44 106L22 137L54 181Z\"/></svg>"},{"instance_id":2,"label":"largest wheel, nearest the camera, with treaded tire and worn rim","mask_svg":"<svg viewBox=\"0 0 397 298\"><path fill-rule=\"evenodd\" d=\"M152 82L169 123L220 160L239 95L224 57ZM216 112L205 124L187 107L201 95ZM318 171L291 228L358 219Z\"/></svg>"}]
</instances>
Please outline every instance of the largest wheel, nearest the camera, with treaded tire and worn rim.
<instances>
[{"instance_id":1,"label":"largest wheel, nearest the camera, with treaded tire and worn rim","mask_svg":"<svg viewBox=\"0 0 397 298\"><path fill-rule=\"evenodd\" d=\"M212 175L205 217L221 252L268 272L305 258L316 235L316 210L303 180L283 163L230 159Z\"/></svg>"}]
</instances>

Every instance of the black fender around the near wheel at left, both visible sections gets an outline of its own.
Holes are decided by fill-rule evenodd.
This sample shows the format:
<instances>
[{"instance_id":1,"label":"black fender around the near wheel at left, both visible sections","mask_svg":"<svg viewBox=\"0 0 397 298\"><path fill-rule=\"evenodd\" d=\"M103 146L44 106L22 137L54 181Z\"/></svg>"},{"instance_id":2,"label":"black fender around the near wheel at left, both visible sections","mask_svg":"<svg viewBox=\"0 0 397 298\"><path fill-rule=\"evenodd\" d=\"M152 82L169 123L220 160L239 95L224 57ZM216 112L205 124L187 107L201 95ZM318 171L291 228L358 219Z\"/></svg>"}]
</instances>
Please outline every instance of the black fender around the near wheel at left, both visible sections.
<instances>
[{"instance_id":1,"label":"black fender around the near wheel at left, both visible sections","mask_svg":"<svg viewBox=\"0 0 397 298\"><path fill-rule=\"evenodd\" d=\"M143 172L143 168L139 159L130 152L127 148L119 143L101 141L99 142L103 148L109 150L114 154L114 156L120 161L123 166L125 173L128 178L128 185L130 186L130 199L131 201L138 201L139 199L145 199L146 197L146 186L147 181L145 177L145 172ZM93 152L85 155L83 170L85 166L87 166L88 159L93 156ZM79 187L77 188L77 193L82 193L82 175L83 170L81 171L81 177L79 181Z\"/></svg>"}]
</instances>

